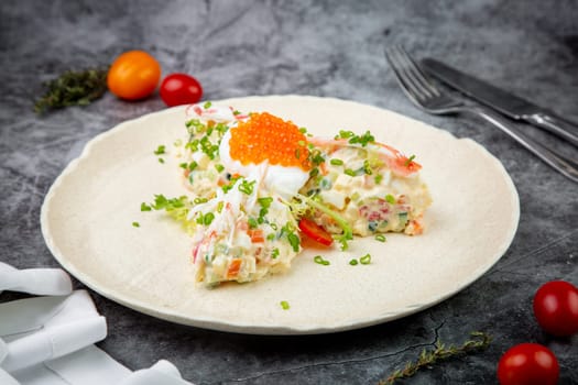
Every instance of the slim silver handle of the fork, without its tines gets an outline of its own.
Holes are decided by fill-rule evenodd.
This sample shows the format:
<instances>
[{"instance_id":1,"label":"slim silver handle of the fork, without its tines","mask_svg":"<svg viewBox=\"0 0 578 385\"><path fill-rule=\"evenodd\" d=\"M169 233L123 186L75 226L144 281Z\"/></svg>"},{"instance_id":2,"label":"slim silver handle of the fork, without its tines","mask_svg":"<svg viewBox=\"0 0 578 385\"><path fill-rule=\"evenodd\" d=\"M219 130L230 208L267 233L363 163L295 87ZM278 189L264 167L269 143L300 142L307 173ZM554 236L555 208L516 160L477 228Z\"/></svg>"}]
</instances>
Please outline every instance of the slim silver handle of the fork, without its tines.
<instances>
[{"instance_id":1,"label":"slim silver handle of the fork, without its tines","mask_svg":"<svg viewBox=\"0 0 578 385\"><path fill-rule=\"evenodd\" d=\"M490 111L483 107L468 107L466 110L486 119L502 130L504 133L510 135L516 142L522 144L526 150L539 157L547 165L569 179L578 183L578 162L576 160L557 154L555 148L552 148L546 144L537 143L531 138L520 133L515 128L513 128L502 117L494 113L493 111Z\"/></svg>"}]
</instances>

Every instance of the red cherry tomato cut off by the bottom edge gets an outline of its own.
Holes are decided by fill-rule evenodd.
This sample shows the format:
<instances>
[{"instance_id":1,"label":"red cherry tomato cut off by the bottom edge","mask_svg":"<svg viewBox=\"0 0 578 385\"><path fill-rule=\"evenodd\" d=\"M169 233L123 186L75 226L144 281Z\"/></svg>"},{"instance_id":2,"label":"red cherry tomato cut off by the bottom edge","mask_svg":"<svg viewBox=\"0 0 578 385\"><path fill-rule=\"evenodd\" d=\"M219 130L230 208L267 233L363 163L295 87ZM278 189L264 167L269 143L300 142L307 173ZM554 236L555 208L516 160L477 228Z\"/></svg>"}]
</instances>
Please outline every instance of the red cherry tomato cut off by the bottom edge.
<instances>
[{"instance_id":1,"label":"red cherry tomato cut off by the bottom edge","mask_svg":"<svg viewBox=\"0 0 578 385\"><path fill-rule=\"evenodd\" d=\"M554 385L558 382L559 372L554 353L537 343L515 345L498 363L501 385Z\"/></svg>"}]
</instances>

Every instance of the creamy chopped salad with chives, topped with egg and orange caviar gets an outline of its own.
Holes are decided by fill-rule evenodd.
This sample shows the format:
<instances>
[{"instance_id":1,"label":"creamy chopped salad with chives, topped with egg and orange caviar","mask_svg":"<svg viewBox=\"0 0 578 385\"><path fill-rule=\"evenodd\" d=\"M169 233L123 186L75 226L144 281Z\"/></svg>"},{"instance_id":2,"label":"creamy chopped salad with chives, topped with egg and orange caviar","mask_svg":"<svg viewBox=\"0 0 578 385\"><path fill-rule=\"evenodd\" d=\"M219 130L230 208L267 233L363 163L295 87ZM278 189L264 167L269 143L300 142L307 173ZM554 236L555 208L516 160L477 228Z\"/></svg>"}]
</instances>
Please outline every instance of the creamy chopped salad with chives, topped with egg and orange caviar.
<instances>
[{"instance_id":1,"label":"creamy chopped salad with chives, topped with egg and orange caviar","mask_svg":"<svg viewBox=\"0 0 578 385\"><path fill-rule=\"evenodd\" d=\"M186 109L174 152L189 194L155 196L193 239L196 280L212 287L290 270L308 238L347 250L353 237L424 231L430 205L415 156L367 131L312 135L268 112L210 102Z\"/></svg>"}]
</instances>

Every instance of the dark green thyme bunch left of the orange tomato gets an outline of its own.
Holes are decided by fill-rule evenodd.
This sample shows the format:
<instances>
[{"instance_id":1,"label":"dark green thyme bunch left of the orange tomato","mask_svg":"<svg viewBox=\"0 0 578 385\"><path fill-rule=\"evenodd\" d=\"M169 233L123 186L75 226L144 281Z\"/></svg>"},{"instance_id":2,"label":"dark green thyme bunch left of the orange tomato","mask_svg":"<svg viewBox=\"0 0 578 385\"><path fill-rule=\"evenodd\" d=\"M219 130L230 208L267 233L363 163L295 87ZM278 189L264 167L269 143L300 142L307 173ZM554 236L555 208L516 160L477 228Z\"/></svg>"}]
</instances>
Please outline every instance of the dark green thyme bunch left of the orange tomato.
<instances>
[{"instance_id":1,"label":"dark green thyme bunch left of the orange tomato","mask_svg":"<svg viewBox=\"0 0 578 385\"><path fill-rule=\"evenodd\" d=\"M69 106L87 106L107 91L108 68L67 70L46 81L46 92L34 103L34 112L41 114L51 109Z\"/></svg>"}]
</instances>

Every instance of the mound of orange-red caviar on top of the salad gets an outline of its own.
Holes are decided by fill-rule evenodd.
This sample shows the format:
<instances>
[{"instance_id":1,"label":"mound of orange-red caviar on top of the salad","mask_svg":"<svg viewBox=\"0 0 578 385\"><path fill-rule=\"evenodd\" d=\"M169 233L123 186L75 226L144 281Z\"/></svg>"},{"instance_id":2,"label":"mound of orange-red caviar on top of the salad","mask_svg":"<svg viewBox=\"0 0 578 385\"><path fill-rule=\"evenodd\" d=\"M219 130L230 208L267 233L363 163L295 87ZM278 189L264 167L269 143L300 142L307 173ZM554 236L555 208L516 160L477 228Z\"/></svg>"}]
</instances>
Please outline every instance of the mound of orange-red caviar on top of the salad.
<instances>
[{"instance_id":1,"label":"mound of orange-red caviar on top of the salad","mask_svg":"<svg viewBox=\"0 0 578 385\"><path fill-rule=\"evenodd\" d=\"M231 130L229 147L231 158L243 165L269 161L272 165L310 168L305 134L291 121L268 112L251 113L248 121L239 122Z\"/></svg>"}]
</instances>

